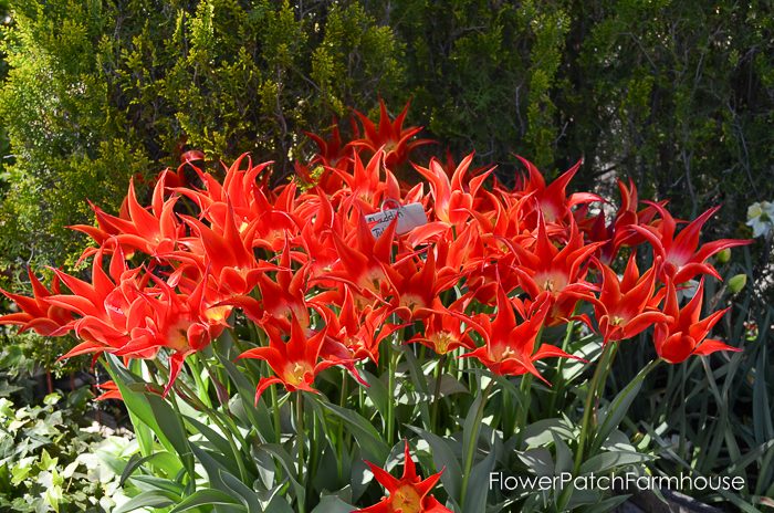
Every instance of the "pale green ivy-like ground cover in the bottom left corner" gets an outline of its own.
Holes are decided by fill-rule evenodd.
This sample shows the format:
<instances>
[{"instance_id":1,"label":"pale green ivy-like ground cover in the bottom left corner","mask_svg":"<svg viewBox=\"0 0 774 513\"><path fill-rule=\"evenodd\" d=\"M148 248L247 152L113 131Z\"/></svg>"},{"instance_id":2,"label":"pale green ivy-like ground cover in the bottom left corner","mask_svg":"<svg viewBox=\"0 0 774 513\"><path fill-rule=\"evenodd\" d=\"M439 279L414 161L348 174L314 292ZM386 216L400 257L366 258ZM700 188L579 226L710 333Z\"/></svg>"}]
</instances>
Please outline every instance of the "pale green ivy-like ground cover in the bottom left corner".
<instances>
[{"instance_id":1,"label":"pale green ivy-like ground cover in the bottom left corner","mask_svg":"<svg viewBox=\"0 0 774 513\"><path fill-rule=\"evenodd\" d=\"M137 443L130 433L84 426L90 397L82 388L23 407L0 398L0 509L102 512L127 501L119 478Z\"/></svg>"}]
</instances>

